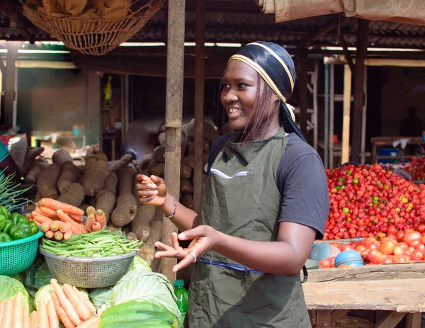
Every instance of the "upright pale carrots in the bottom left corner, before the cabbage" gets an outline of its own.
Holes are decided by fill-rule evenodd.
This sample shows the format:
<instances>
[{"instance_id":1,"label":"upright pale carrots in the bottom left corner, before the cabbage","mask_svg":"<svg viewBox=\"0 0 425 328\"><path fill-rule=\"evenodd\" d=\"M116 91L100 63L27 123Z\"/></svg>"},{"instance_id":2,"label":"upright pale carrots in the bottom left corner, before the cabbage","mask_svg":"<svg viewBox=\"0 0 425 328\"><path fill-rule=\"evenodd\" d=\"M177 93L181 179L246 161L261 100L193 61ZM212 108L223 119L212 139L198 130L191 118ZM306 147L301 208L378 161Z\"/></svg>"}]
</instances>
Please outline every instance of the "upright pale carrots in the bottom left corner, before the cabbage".
<instances>
[{"instance_id":1,"label":"upright pale carrots in the bottom left corner, before the cabbage","mask_svg":"<svg viewBox=\"0 0 425 328\"><path fill-rule=\"evenodd\" d=\"M28 305L23 306L23 295L21 293L16 294L14 298L9 298L8 300L2 300L0 302L0 327L37 327L30 326L30 311Z\"/></svg>"}]
</instances>

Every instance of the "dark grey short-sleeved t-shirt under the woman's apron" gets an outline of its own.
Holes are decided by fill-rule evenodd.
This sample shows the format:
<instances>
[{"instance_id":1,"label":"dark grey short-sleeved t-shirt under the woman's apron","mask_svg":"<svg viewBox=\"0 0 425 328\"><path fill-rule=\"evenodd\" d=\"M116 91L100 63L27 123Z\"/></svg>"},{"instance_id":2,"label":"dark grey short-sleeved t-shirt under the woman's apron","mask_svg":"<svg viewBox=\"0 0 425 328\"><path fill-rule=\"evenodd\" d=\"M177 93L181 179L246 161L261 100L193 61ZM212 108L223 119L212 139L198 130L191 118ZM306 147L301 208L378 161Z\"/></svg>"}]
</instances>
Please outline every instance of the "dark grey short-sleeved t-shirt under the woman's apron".
<instances>
[{"instance_id":1,"label":"dark grey short-sleeved t-shirt under the woman's apron","mask_svg":"<svg viewBox=\"0 0 425 328\"><path fill-rule=\"evenodd\" d=\"M230 134L222 135L212 144L207 174L229 136ZM295 133L290 133L287 137L288 144L276 174L282 199L279 222L307 225L317 231L317 239L322 239L330 206L322 159Z\"/></svg>"}]
</instances>

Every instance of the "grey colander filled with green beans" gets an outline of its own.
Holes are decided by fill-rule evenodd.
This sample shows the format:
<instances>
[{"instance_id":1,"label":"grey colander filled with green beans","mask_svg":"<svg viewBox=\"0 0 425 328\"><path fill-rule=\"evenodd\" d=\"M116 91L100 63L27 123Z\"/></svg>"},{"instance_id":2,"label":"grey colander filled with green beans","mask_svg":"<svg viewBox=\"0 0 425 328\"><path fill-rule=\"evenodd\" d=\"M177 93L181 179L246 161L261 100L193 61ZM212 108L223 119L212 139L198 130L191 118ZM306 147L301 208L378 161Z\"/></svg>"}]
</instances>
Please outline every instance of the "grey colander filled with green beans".
<instances>
[{"instance_id":1,"label":"grey colander filled with green beans","mask_svg":"<svg viewBox=\"0 0 425 328\"><path fill-rule=\"evenodd\" d=\"M40 248L47 267L59 283L79 288L115 285L127 273L136 251L108 257L58 256Z\"/></svg>"}]
</instances>

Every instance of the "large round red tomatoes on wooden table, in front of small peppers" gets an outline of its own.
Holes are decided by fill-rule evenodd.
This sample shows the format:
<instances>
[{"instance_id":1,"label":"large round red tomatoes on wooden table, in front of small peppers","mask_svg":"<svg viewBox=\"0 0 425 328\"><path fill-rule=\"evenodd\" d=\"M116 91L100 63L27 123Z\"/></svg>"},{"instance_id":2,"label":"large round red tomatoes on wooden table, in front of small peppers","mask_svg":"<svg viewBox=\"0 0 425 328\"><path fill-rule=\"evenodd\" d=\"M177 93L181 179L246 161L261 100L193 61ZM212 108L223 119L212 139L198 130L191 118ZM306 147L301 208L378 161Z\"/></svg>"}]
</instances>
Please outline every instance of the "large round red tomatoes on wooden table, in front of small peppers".
<instances>
[{"instance_id":1,"label":"large round red tomatoes on wooden table, in front of small peppers","mask_svg":"<svg viewBox=\"0 0 425 328\"><path fill-rule=\"evenodd\" d=\"M331 242L331 246L339 248L341 251L354 249L363 257L365 265L407 263L410 261L424 261L425 253L425 224L418 226L419 231L409 230L407 232L397 232L382 237L380 241L373 237L366 237L362 242L352 242L351 244L339 244ZM333 268L335 257L319 262L322 268ZM349 268L348 265L338 268Z\"/></svg>"}]
</instances>

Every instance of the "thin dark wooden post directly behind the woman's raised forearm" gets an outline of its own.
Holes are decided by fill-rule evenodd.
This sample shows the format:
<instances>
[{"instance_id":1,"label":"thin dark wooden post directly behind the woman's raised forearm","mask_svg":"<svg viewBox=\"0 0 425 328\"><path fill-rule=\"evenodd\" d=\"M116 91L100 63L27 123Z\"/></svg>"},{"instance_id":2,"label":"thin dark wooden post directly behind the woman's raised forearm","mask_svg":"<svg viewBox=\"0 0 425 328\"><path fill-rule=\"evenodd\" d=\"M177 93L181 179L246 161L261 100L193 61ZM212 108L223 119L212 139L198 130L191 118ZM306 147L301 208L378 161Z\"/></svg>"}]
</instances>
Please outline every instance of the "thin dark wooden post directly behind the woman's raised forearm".
<instances>
[{"instance_id":1,"label":"thin dark wooden post directly behind the woman's raised forearm","mask_svg":"<svg viewBox=\"0 0 425 328\"><path fill-rule=\"evenodd\" d=\"M195 158L203 158L203 114L205 94L205 0L196 1L195 17ZM203 185L203 161L195 161L193 170L193 210L200 209Z\"/></svg>"}]
</instances>

